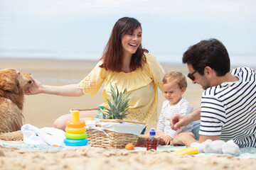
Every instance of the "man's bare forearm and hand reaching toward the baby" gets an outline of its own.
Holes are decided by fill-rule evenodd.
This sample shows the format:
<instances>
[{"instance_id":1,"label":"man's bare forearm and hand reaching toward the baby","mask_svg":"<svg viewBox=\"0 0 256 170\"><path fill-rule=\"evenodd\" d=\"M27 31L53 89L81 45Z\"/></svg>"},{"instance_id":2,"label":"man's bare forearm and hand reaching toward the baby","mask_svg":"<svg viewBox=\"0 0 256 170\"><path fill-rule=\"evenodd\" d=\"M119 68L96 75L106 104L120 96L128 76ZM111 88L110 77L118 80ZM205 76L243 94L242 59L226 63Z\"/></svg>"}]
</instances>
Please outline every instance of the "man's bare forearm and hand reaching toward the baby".
<instances>
[{"instance_id":1,"label":"man's bare forearm and hand reaching toward the baby","mask_svg":"<svg viewBox=\"0 0 256 170\"><path fill-rule=\"evenodd\" d=\"M188 115L174 115L170 118L171 129L178 130L181 126L188 125L189 123L200 120L201 108L198 108L196 111L189 113Z\"/></svg>"}]
</instances>

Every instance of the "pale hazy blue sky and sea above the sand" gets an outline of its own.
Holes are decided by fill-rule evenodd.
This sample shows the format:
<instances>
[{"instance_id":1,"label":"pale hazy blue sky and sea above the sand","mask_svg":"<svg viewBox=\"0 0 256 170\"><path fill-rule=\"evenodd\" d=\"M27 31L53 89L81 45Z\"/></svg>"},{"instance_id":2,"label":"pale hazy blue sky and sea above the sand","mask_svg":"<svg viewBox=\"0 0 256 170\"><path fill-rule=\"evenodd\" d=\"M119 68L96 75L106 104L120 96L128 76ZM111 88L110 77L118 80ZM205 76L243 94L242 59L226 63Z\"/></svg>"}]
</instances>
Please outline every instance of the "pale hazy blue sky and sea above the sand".
<instances>
[{"instance_id":1,"label":"pale hazy blue sky and sea above the sand","mask_svg":"<svg viewBox=\"0 0 256 170\"><path fill-rule=\"evenodd\" d=\"M114 23L129 16L160 61L181 63L189 46L217 38L231 63L252 64L255 8L255 0L0 0L0 57L98 60Z\"/></svg>"}]
</instances>

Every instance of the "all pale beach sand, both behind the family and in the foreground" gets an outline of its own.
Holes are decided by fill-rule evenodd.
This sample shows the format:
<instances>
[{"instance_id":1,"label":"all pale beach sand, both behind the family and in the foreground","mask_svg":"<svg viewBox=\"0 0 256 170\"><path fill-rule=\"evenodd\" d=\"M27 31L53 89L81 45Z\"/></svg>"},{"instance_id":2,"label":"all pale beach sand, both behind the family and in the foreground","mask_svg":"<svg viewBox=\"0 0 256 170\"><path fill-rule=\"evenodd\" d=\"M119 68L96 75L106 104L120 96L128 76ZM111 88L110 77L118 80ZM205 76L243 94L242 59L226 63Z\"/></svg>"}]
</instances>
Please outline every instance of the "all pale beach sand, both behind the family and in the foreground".
<instances>
[{"instance_id":1,"label":"all pale beach sand, both behind the family and in the foreground","mask_svg":"<svg viewBox=\"0 0 256 170\"><path fill-rule=\"evenodd\" d=\"M78 84L95 61L5 59L0 58L0 69L16 68L29 72L43 84ZM186 65L162 64L165 71L176 70L187 74ZM194 109L199 108L201 86L192 84L184 96ZM159 91L160 92L160 91ZM38 128L53 127L58 116L69 113L71 108L97 108L102 103L102 89L94 97L53 96L38 94L26 96L23 109L24 124ZM165 100L159 93L158 113ZM156 128L155 124L148 125ZM234 157L191 157L170 152L127 152L123 149L87 148L62 151L31 151L0 147L0 169L255 169L255 159Z\"/></svg>"}]
</instances>

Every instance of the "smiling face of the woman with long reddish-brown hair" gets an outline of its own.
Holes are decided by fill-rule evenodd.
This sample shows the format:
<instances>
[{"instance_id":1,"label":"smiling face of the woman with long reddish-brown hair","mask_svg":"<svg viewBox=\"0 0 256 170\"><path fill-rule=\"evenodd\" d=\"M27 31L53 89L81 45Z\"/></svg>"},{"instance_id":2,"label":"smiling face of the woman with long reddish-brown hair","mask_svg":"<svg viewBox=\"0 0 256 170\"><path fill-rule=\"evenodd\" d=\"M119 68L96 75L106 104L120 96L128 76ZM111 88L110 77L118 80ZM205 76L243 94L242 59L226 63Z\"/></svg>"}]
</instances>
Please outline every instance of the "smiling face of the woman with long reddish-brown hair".
<instances>
[{"instance_id":1,"label":"smiling face of the woman with long reddish-brown hair","mask_svg":"<svg viewBox=\"0 0 256 170\"><path fill-rule=\"evenodd\" d=\"M122 37L122 49L124 54L133 55L142 43L142 28L138 27Z\"/></svg>"}]
</instances>

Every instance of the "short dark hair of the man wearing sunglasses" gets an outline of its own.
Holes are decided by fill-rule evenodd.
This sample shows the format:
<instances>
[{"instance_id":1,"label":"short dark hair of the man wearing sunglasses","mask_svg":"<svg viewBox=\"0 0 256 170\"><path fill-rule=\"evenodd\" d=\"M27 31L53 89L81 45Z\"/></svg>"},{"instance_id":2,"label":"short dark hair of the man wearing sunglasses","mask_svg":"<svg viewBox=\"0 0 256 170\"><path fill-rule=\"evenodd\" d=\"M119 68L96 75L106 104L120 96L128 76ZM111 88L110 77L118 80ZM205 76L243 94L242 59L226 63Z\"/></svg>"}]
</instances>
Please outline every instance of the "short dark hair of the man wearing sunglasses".
<instances>
[{"instance_id":1,"label":"short dark hair of the man wearing sunglasses","mask_svg":"<svg viewBox=\"0 0 256 170\"><path fill-rule=\"evenodd\" d=\"M216 39L201 40L188 48L183 54L183 64L191 64L193 69L203 75L205 67L215 70L217 76L230 72L230 58L222 42Z\"/></svg>"}]
</instances>

